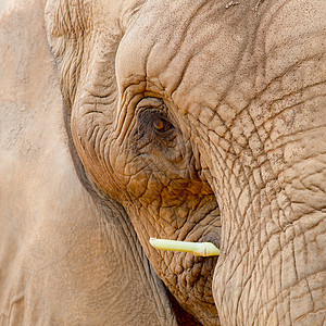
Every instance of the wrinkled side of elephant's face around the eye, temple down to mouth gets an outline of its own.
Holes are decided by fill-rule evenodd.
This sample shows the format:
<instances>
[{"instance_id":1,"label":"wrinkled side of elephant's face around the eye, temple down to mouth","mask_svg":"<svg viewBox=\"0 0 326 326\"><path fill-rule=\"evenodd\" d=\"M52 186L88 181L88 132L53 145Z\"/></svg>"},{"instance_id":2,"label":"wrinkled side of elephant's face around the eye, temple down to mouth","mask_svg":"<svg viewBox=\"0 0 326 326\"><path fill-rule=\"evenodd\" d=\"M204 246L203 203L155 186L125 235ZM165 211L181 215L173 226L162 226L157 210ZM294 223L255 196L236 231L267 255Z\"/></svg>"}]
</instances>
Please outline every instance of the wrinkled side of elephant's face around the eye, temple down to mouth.
<instances>
[{"instance_id":1,"label":"wrinkled side of elephant's face around the eye, temple down to mouth","mask_svg":"<svg viewBox=\"0 0 326 326\"><path fill-rule=\"evenodd\" d=\"M49 1L48 37L71 115L68 125L87 173L103 192L125 208L154 271L180 305L201 323L215 325L218 317L212 277L216 258L158 251L149 244L149 238L168 238L213 241L220 247L221 222L190 137L170 114L168 99L153 96L143 78L137 79L138 72L136 79L134 73L131 79L126 79L124 87L128 92L117 89L114 62L118 79L123 67L129 66L125 62L129 59L123 58L129 51L124 50L124 39L128 42L129 35L126 29L129 21L138 16L130 16L129 11L134 15L141 13L141 4L131 1L127 12L120 15L118 24L108 24L112 12L108 1L93 7L84 3L82 10ZM137 21L131 26L137 28ZM78 75L78 80L72 84L65 79L68 75ZM158 122L163 131L153 127Z\"/></svg>"}]
</instances>

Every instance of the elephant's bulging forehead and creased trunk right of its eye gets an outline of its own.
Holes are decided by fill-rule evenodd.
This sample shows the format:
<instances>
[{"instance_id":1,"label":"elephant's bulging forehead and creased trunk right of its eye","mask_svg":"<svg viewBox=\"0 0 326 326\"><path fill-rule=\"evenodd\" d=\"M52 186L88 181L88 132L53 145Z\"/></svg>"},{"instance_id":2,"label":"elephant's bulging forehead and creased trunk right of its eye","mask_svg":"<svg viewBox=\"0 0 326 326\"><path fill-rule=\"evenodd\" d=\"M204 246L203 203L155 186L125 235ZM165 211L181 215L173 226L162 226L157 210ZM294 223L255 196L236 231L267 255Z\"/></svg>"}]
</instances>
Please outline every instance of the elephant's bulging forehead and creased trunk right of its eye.
<instances>
[{"instance_id":1,"label":"elephant's bulging forehead and creased trunk right of its eye","mask_svg":"<svg viewBox=\"0 0 326 326\"><path fill-rule=\"evenodd\" d=\"M117 84L131 98L129 85L148 80L208 167L222 324L322 325L326 8L255 3L148 2L120 45Z\"/></svg>"}]
</instances>

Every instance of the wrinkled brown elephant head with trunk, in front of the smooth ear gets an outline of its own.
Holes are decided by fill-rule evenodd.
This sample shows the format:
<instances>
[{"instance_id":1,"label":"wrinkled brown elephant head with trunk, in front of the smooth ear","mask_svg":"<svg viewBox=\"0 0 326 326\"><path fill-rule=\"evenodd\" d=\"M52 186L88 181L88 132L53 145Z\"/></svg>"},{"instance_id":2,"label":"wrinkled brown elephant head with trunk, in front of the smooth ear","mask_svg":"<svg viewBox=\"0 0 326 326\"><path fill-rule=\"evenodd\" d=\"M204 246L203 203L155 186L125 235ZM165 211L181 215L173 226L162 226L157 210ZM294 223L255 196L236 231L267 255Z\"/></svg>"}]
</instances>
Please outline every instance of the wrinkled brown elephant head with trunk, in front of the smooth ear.
<instances>
[{"instance_id":1,"label":"wrinkled brown elephant head with trunk, in front of the smooth ear","mask_svg":"<svg viewBox=\"0 0 326 326\"><path fill-rule=\"evenodd\" d=\"M75 160L205 325L323 319L325 15L317 0L47 1Z\"/></svg>"}]
</instances>

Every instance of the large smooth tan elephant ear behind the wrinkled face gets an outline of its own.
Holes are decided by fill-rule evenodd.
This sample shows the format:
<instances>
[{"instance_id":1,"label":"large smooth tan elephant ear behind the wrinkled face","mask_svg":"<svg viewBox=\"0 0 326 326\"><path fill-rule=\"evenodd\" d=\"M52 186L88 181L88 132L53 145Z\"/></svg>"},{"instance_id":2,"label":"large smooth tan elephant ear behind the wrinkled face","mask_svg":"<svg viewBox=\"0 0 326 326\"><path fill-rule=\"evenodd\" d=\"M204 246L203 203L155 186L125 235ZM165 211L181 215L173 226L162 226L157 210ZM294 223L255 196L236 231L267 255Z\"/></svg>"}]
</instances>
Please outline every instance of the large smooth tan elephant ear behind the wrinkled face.
<instances>
[{"instance_id":1,"label":"large smooth tan elephant ear behind the wrinkled face","mask_svg":"<svg viewBox=\"0 0 326 326\"><path fill-rule=\"evenodd\" d=\"M0 324L175 325L125 211L77 176L42 3L22 1L0 21ZM64 66L75 39L61 28Z\"/></svg>"}]
</instances>

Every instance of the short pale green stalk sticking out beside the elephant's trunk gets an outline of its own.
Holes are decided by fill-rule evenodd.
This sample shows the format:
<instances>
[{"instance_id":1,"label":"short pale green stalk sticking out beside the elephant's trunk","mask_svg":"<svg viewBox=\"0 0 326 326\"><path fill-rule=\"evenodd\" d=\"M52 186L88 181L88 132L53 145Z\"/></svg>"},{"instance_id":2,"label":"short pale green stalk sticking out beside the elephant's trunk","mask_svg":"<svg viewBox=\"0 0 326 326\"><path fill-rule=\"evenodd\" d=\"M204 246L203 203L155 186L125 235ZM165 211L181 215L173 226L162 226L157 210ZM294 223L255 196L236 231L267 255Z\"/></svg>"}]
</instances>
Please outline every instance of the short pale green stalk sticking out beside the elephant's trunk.
<instances>
[{"instance_id":1,"label":"short pale green stalk sticking out beside the elephant's trunk","mask_svg":"<svg viewBox=\"0 0 326 326\"><path fill-rule=\"evenodd\" d=\"M152 247L160 250L190 252L195 255L220 255L220 250L212 242L188 242L166 239L150 238Z\"/></svg>"}]
</instances>

